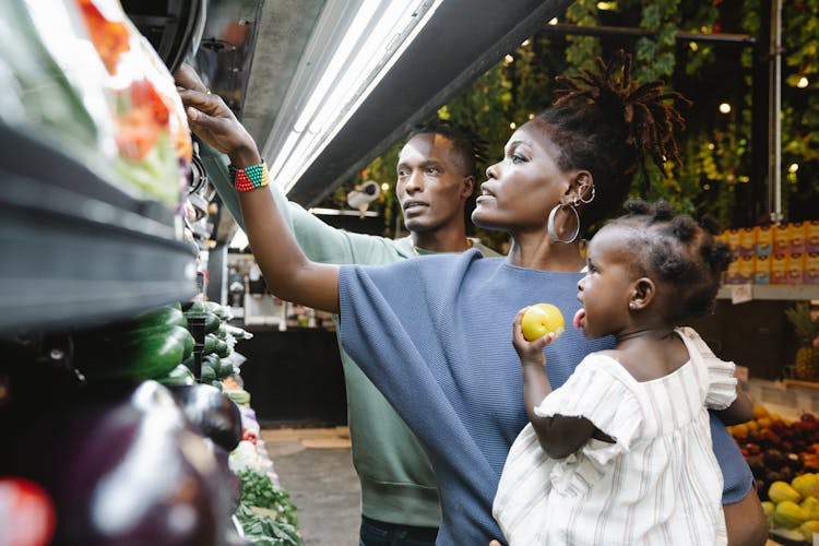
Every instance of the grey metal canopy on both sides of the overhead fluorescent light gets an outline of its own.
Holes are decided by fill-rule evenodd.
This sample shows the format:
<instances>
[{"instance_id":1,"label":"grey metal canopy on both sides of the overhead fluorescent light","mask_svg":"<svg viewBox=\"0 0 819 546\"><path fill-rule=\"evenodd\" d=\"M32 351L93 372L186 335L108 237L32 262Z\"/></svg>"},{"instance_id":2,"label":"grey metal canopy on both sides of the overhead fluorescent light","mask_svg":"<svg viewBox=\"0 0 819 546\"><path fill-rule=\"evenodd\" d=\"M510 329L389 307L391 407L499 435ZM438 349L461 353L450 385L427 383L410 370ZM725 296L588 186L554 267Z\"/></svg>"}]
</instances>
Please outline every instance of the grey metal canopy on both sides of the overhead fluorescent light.
<instances>
[{"instance_id":1,"label":"grey metal canopy on both sides of the overhead fluorescent light","mask_svg":"<svg viewBox=\"0 0 819 546\"><path fill-rule=\"evenodd\" d=\"M288 198L306 206L318 203L570 3L444 0ZM260 147L275 123L289 80L301 68L304 48L327 4L330 2L266 0L260 5L240 105L242 122Z\"/></svg>"}]
</instances>

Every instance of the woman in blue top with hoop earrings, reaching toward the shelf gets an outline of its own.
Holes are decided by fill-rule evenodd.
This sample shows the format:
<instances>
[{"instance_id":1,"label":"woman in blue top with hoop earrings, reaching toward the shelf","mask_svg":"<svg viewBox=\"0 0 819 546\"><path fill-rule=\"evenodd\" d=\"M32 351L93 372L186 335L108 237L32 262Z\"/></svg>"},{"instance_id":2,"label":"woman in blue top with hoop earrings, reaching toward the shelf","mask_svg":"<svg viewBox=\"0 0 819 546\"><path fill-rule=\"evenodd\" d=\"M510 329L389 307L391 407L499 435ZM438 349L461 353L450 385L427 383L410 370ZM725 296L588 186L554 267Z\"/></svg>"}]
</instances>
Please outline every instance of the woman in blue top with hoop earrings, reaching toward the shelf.
<instances>
[{"instance_id":1,"label":"woman in blue top with hoop earrings, reaching toward the shelf","mask_svg":"<svg viewBox=\"0 0 819 546\"><path fill-rule=\"evenodd\" d=\"M487 169L472 219L511 236L505 258L467 250L387 266L311 262L270 192L254 189L266 181L263 166L253 165L258 156L230 156L244 173L236 182L245 226L271 290L340 313L344 349L429 455L441 500L439 545L486 545L501 536L492 499L509 449L527 423L508 324L536 301L573 316L584 266L580 230L619 209L642 157L675 157L670 130L681 119L666 103L676 95L664 95L658 84L634 88L629 71L617 68L569 81L566 99L518 129L502 161ZM190 109L193 99L187 105L194 131L218 138L224 120ZM545 348L545 372L555 387L585 355L614 346L612 336L563 335L557 348ZM728 533L764 533L761 507L749 492L750 471L725 427L714 428L723 503L736 503L726 509Z\"/></svg>"}]
</instances>

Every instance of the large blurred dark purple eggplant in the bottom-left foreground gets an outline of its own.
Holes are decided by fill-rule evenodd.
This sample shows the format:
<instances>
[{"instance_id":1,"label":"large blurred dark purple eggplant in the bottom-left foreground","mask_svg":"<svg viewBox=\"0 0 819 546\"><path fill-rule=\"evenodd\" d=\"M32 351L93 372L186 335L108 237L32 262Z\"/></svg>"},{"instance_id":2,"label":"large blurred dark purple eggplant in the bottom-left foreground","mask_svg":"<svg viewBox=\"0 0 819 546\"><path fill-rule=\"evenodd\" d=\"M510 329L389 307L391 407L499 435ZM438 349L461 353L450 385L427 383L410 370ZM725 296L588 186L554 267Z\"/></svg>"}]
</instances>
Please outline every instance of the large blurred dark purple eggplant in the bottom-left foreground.
<instances>
[{"instance_id":1,"label":"large blurred dark purple eggplant in the bottom-left foreground","mask_svg":"<svg viewBox=\"0 0 819 546\"><path fill-rule=\"evenodd\" d=\"M90 389L5 422L14 424L14 441L0 453L0 468L51 496L54 544L223 544L228 476L159 383Z\"/></svg>"}]
</instances>

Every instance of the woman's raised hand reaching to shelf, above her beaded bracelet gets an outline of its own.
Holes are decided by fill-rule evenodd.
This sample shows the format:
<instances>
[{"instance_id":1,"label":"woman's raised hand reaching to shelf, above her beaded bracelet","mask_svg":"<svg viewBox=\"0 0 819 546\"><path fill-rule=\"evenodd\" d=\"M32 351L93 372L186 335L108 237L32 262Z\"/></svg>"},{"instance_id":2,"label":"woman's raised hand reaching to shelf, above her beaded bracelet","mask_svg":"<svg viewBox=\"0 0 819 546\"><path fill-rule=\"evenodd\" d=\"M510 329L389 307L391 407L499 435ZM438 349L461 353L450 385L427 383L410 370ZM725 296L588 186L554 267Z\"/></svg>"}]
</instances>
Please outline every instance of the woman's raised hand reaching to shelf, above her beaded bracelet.
<instances>
[{"instance_id":1,"label":"woman's raised hand reaching to shelf, above her beaded bracelet","mask_svg":"<svg viewBox=\"0 0 819 546\"><path fill-rule=\"evenodd\" d=\"M253 138L218 95L211 94L187 64L174 74L193 133L230 158L235 167L261 163Z\"/></svg>"}]
</instances>

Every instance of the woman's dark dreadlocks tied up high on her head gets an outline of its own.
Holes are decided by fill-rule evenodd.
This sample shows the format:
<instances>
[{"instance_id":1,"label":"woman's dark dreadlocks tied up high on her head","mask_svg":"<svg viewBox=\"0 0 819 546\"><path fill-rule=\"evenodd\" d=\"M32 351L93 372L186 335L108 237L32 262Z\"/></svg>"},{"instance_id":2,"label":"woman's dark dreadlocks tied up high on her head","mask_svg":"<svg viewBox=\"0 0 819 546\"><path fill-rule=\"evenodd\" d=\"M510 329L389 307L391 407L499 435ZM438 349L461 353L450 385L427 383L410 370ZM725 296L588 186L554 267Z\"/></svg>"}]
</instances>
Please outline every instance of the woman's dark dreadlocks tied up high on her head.
<instances>
[{"instance_id":1,"label":"woman's dark dreadlocks tied up high on her head","mask_svg":"<svg viewBox=\"0 0 819 546\"><path fill-rule=\"evenodd\" d=\"M589 169L594 177L596 197L585 207L586 226L616 212L638 168L648 183L646 157L662 171L666 161L680 163L674 131L685 129L685 119L675 103L691 104L677 92L665 92L661 80L638 85L631 56L622 50L608 64L597 59L597 69L557 76L559 98L537 115L549 126L559 167Z\"/></svg>"}]
</instances>

